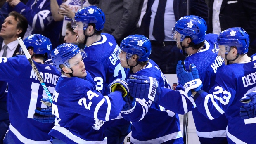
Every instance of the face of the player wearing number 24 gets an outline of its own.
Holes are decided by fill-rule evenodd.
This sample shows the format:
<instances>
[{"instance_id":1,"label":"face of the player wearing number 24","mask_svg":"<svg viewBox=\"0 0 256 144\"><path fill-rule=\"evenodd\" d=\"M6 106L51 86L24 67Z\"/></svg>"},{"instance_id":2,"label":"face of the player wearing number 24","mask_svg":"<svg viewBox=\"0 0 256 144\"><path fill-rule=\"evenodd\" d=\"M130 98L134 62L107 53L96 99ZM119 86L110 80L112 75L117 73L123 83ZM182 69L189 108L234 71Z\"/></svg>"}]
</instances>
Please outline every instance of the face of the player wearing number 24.
<instances>
[{"instance_id":1,"label":"face of the player wearing number 24","mask_svg":"<svg viewBox=\"0 0 256 144\"><path fill-rule=\"evenodd\" d=\"M84 78L87 75L81 54L76 54L76 56L69 59L69 64L74 71L73 76Z\"/></svg>"}]
</instances>

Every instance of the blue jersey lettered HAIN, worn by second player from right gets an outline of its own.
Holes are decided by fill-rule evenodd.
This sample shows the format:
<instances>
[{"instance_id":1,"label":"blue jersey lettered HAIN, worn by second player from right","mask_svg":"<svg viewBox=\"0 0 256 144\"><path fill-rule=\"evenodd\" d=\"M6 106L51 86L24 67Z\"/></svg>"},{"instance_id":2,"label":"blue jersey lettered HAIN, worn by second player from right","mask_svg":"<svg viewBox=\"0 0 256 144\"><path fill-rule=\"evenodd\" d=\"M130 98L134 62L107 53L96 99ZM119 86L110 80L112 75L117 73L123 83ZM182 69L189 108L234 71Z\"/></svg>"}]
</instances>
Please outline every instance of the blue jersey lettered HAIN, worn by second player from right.
<instances>
[{"instance_id":1,"label":"blue jersey lettered HAIN, worn by second player from right","mask_svg":"<svg viewBox=\"0 0 256 144\"><path fill-rule=\"evenodd\" d=\"M207 34L204 48L188 56L184 61L187 71L189 71L190 64L197 66L199 77L203 83L202 89L206 92L215 84L217 70L225 65L223 59L213 53L214 42L216 42L217 36L216 34ZM178 85L176 90L182 95L175 91L161 89L161 96L157 103L179 114L192 111L197 135L201 143L211 144L227 142L225 130L228 125L228 120L225 116L220 116L214 120L207 119L204 115L199 113L192 97L187 97L187 94L184 94L183 90L179 90L180 87L181 86Z\"/></svg>"}]
</instances>

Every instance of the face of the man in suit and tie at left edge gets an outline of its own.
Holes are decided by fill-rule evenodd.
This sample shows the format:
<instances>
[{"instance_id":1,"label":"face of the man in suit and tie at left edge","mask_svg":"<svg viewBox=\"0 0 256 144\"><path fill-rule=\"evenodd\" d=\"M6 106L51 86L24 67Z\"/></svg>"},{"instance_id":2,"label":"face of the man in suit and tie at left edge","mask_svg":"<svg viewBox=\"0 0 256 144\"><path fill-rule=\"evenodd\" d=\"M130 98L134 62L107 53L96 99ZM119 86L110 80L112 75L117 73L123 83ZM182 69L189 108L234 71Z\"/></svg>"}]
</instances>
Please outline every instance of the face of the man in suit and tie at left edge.
<instances>
[{"instance_id":1,"label":"face of the man in suit and tie at left edge","mask_svg":"<svg viewBox=\"0 0 256 144\"><path fill-rule=\"evenodd\" d=\"M19 35L22 31L17 29L18 22L14 19L13 16L9 16L5 19L2 24L2 29L0 32L0 36L2 38L14 38L16 35Z\"/></svg>"}]
</instances>

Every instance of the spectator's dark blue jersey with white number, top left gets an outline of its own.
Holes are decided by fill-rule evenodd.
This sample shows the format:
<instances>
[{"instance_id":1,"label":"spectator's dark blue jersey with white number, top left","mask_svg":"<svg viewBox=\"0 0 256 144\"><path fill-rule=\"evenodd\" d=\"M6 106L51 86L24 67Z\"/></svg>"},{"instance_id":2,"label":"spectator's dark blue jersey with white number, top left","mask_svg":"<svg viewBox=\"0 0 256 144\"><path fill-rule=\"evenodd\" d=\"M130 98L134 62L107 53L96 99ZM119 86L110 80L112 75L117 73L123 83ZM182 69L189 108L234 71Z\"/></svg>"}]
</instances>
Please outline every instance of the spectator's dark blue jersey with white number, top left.
<instances>
[{"instance_id":1,"label":"spectator's dark blue jersey with white number, top left","mask_svg":"<svg viewBox=\"0 0 256 144\"><path fill-rule=\"evenodd\" d=\"M28 20L26 37L33 34L41 34L52 42L52 49L59 45L59 35L62 30L63 21L54 21L50 8L51 0L28 0L26 5L19 2L14 8L8 5L8 12L16 11ZM62 4L62 0L57 0Z\"/></svg>"}]
</instances>

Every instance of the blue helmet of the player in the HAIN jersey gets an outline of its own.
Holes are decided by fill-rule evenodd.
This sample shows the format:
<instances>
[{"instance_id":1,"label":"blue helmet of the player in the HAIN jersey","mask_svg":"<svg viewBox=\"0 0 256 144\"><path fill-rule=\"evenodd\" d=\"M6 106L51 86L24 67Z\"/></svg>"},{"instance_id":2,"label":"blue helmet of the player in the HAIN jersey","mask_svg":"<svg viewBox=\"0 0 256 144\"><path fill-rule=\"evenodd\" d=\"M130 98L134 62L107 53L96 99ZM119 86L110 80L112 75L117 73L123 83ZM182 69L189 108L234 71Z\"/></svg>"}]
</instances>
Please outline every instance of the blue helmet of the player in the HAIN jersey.
<instances>
[{"instance_id":1,"label":"blue helmet of the player in the HAIN jersey","mask_svg":"<svg viewBox=\"0 0 256 144\"><path fill-rule=\"evenodd\" d=\"M180 42L182 42L186 36L190 36L194 44L199 44L204 41L206 31L207 24L203 18L193 15L185 16L181 17L173 27L172 38L175 40L174 35L178 32L181 35Z\"/></svg>"}]
</instances>

